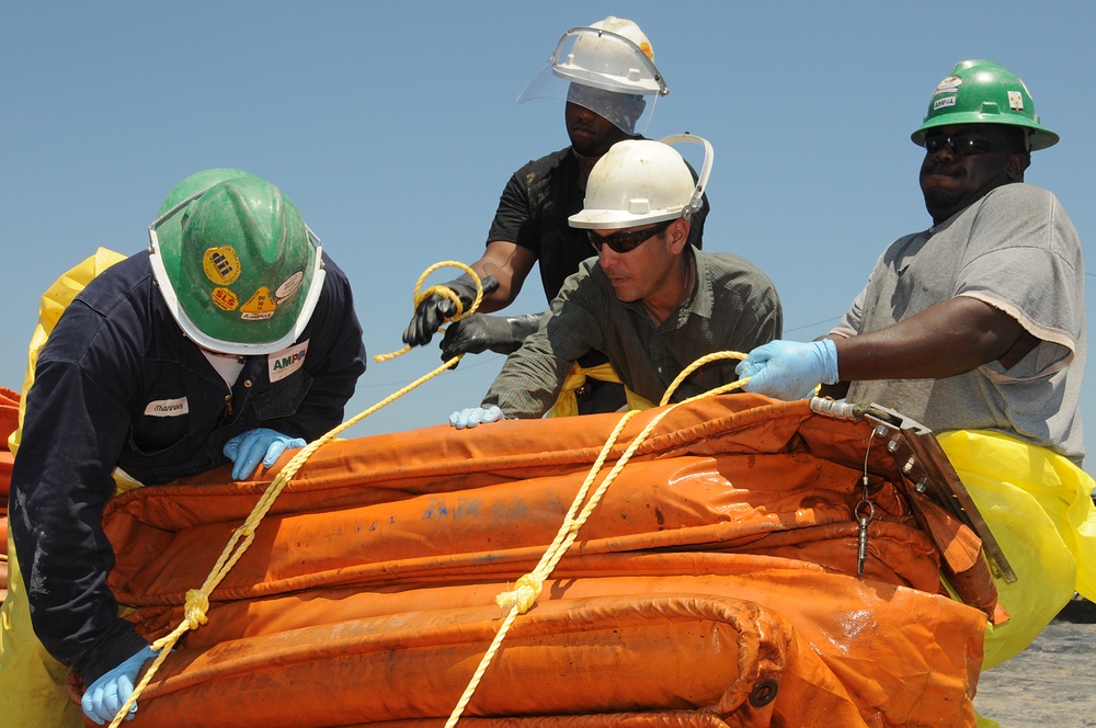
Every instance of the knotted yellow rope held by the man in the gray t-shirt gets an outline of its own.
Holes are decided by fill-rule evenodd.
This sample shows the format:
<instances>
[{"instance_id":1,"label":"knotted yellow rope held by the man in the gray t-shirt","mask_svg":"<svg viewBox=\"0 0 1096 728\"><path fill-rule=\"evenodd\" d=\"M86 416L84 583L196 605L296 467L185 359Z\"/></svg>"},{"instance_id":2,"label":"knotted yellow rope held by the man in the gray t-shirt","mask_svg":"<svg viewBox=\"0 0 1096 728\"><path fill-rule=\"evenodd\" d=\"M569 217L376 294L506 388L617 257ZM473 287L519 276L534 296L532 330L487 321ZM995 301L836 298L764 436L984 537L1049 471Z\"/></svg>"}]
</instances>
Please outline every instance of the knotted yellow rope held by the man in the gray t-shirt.
<instances>
[{"instance_id":1,"label":"knotted yellow rope held by the man in the gray t-shirt","mask_svg":"<svg viewBox=\"0 0 1096 728\"><path fill-rule=\"evenodd\" d=\"M696 368L704 366L708 362L716 361L719 359L745 359L745 354L740 354L738 352L717 352L715 354L708 354L707 356L701 356L697 361L693 362L693 364L690 364L688 367L686 367L674 379L674 382L666 389L666 394L663 395L662 397L662 405L665 405L666 401L670 399L670 397L673 396L673 393L677 389L677 387L681 385L681 383L685 379L686 376L688 376ZM659 414L655 416L648 423L646 428L643 428L643 431L639 433L636 440L632 441L631 445L628 446L624 455L620 456L620 459L617 460L616 465L613 466L613 469L609 470L608 475L605 476L604 480L602 480L601 485L594 491L594 494L591 496L590 500L582 508L582 512L579 513L578 516L575 516L575 512L579 510L579 504L582 503L582 501L585 499L586 492L589 491L591 484L594 481L594 478L597 476L597 473L602 469L602 466L604 465L606 457L612 451L613 445L616 444L617 439L620 436L620 431L624 430L624 425L627 424L632 417L639 413L639 410L630 410L628 412L625 412L624 417L620 418L620 421L617 422L616 428L609 434L609 437L605 442L605 445L602 447L601 453L598 453L597 459L590 468L590 473L586 474L586 479L583 481L582 487L579 488L579 492L575 493L574 500L571 502L571 508L568 510L567 515L563 516L563 523L560 525L560 528L556 534L556 538L552 539L551 545L548 546L548 549L545 551L544 556L540 557L540 562L537 564L536 568L533 569L533 571L518 578L517 582L515 583L512 590L503 592L498 596L495 596L495 603L503 610L509 610L509 612L506 613L506 616L503 619L502 625L499 627L499 632L495 633L494 639L491 641L491 646L488 648L487 652L484 652L482 659L480 659L480 663L476 668L476 672L472 673L472 678L468 682L468 686L465 687L465 692L460 695L460 698L457 701L456 706L449 714L449 719L445 721L445 728L454 728L454 726L457 725L457 721L460 720L460 715L464 713L465 707L467 707L468 705L468 702L472 698L472 695L476 693L476 689L479 687L480 681L483 679L483 674L487 672L488 667L494 659L495 653L498 653L499 648L502 647L502 642L506 638L506 634L510 632L511 625L514 624L514 621L517 618L517 615L525 614L533 607L533 604L540 595L540 590L544 588L544 582L551 575L552 570L555 570L556 565L559 564L559 560L563 557L563 554L566 554L567 550L574 543L574 539L579 535L579 530L582 527L582 525L590 517L591 513L593 513L594 509L601 502L602 497L605 494L606 489L608 489L609 485L620 474L620 471L624 469L624 466L628 464L628 460L631 459L631 456L636 453L637 450L639 450L640 445L643 444L643 442L647 440L651 431L654 430L655 426L658 426L658 424L662 421L664 417L670 414L681 405L696 401L697 399L701 399L704 397L711 397L717 394L730 391L731 389L737 389L745 385L747 382L750 382L750 377L744 377L742 379L739 379L738 382L732 382L730 384L722 385L720 387L711 389L710 391L697 395L696 397L690 397L688 399L685 399L672 407L666 408L662 412L659 412Z\"/></svg>"}]
</instances>

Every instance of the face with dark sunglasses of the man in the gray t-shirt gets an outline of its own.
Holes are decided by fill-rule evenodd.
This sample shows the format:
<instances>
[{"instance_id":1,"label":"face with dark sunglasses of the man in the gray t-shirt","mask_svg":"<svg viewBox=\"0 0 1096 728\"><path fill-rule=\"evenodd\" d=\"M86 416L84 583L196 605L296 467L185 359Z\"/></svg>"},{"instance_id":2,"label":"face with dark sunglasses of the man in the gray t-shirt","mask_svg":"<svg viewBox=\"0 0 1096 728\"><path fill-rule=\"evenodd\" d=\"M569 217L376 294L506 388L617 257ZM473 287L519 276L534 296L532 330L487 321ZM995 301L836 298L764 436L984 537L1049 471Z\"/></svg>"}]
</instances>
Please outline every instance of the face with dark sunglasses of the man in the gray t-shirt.
<instances>
[{"instance_id":1,"label":"face with dark sunglasses of the man in the gray t-shirt","mask_svg":"<svg viewBox=\"0 0 1096 728\"><path fill-rule=\"evenodd\" d=\"M921 191L933 223L943 223L990 190L1023 181L1028 157L1017 151L1015 134L1015 129L1000 124L931 129L921 164ZM968 146L948 143L948 139L970 141L972 136L974 144Z\"/></svg>"}]
</instances>

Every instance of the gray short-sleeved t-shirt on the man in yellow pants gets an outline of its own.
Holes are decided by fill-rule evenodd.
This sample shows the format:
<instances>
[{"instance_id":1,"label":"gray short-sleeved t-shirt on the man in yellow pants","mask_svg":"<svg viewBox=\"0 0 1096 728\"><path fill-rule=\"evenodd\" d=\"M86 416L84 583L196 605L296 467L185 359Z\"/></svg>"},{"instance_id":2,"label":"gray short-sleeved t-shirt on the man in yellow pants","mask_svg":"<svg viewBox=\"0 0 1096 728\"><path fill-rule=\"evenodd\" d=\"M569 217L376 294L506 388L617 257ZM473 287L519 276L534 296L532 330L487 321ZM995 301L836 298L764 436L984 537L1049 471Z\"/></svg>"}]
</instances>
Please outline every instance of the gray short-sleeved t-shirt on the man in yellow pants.
<instances>
[{"instance_id":1,"label":"gray short-sleeved t-shirt on the man in yellow pants","mask_svg":"<svg viewBox=\"0 0 1096 728\"><path fill-rule=\"evenodd\" d=\"M1015 318L1039 344L1008 369L990 362L943 379L855 382L847 401L890 407L937 432L1004 432L1080 464L1084 276L1073 223L1053 194L1030 184L997 187L945 223L897 240L832 333L876 331L970 296Z\"/></svg>"}]
</instances>

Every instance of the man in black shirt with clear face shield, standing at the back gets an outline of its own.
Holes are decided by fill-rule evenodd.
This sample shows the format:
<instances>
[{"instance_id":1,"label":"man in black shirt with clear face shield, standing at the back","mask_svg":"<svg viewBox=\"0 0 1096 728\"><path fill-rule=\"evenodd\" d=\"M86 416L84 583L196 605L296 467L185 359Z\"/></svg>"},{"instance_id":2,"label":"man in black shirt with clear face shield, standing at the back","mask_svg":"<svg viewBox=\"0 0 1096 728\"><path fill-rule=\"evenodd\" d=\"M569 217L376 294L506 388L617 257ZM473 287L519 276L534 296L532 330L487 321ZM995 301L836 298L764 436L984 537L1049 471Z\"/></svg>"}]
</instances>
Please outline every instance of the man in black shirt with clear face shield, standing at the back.
<instances>
[{"instance_id":1,"label":"man in black shirt with clear face shield, standing at the back","mask_svg":"<svg viewBox=\"0 0 1096 728\"><path fill-rule=\"evenodd\" d=\"M590 257L583 231L568 225L568 217L582 209L590 170L617 141L641 138L655 102L666 93L665 81L654 66L651 43L635 22L609 16L563 34L517 103L537 98L566 100L564 122L571 145L525 164L506 184L487 249L471 264L484 280L488 295L480 314L448 326L441 344L443 361L488 350L510 353L536 330L541 314L488 314L505 308L517 297L535 263L539 263L545 296L550 302L567 276ZM692 218L689 241L697 248L707 212L705 200ZM476 296L468 275L446 285L464 307ZM426 296L416 306L403 341L411 345L427 343L438 327L456 314L450 299ZM581 412L615 410L624 403L621 388L604 384L606 379L618 380L613 372L602 368L604 362L604 355L596 352L582 362L584 373L602 378L575 387Z\"/></svg>"}]
</instances>

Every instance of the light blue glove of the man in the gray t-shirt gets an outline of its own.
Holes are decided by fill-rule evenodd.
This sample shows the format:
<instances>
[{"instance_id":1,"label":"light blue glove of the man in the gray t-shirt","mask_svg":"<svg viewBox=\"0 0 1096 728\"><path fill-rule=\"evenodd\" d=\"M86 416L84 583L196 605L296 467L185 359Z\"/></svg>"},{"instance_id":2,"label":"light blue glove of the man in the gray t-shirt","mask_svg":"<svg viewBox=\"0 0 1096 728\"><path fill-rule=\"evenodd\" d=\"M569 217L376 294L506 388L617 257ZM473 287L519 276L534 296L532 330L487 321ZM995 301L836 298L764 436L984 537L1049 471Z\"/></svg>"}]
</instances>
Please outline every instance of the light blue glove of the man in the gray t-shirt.
<instances>
[{"instance_id":1,"label":"light blue glove of the man in the gray t-shirt","mask_svg":"<svg viewBox=\"0 0 1096 728\"><path fill-rule=\"evenodd\" d=\"M837 383L837 348L830 339L801 343L770 341L734 367L750 377L743 389L777 399L802 399L821 384Z\"/></svg>"}]
</instances>

